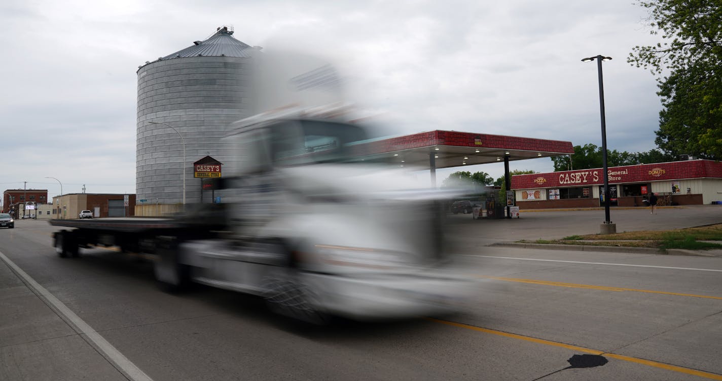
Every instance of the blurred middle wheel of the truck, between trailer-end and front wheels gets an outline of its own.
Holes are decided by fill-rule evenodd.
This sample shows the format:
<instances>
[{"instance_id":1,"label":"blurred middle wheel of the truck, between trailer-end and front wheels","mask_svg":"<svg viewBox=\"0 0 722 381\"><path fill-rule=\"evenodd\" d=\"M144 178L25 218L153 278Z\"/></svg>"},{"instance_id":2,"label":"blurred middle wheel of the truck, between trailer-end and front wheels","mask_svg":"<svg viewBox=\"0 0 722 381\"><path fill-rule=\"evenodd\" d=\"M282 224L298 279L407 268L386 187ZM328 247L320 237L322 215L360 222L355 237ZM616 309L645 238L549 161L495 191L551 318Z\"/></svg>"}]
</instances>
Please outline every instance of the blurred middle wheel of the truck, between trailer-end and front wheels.
<instances>
[{"instance_id":1,"label":"blurred middle wheel of the truck, between trailer-end and front wheels","mask_svg":"<svg viewBox=\"0 0 722 381\"><path fill-rule=\"evenodd\" d=\"M183 292L191 284L191 268L179 261L181 241L175 237L159 237L153 272L158 286L165 292Z\"/></svg>"}]
</instances>

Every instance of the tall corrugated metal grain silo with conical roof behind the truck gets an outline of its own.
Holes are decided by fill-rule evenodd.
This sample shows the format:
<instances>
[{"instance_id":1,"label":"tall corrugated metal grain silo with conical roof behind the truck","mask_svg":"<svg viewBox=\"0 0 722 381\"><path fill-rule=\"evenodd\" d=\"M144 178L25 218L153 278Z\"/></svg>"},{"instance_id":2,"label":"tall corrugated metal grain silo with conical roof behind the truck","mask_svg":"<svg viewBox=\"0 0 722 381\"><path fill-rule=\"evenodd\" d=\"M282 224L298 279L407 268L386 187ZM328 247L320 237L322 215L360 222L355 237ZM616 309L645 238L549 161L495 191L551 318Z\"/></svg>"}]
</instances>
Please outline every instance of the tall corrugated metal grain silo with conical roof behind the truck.
<instances>
[{"instance_id":1,"label":"tall corrugated metal grain silo with conical roof behind the truck","mask_svg":"<svg viewBox=\"0 0 722 381\"><path fill-rule=\"evenodd\" d=\"M186 203L200 202L193 162L212 156L223 163L229 157L220 138L231 122L248 116L246 76L257 50L232 35L219 27L208 39L139 67L136 200L145 201L136 210L183 202L183 171Z\"/></svg>"}]
</instances>

